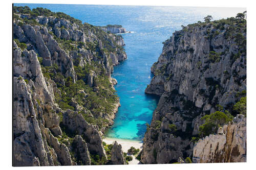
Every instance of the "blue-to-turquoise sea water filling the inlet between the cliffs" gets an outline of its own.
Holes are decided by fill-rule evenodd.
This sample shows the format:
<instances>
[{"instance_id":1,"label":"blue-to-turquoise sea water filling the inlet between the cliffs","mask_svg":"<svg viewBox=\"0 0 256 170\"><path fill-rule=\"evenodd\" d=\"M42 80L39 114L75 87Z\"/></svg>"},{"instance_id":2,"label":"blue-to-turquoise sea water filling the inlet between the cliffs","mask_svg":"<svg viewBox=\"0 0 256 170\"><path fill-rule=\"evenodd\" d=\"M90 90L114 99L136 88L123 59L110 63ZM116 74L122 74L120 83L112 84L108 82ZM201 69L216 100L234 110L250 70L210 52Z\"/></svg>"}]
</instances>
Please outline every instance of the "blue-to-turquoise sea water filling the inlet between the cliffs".
<instances>
[{"instance_id":1,"label":"blue-to-turquoise sea water filling the inlet between the cliffs","mask_svg":"<svg viewBox=\"0 0 256 170\"><path fill-rule=\"evenodd\" d=\"M181 25L203 21L212 15L214 19L236 16L241 8L151 7L151 6L99 6L15 4L30 8L48 8L53 12L65 12L83 22L95 26L122 25L133 33L122 34L128 59L114 67L112 77L120 97L121 107L108 137L141 140L150 124L158 98L146 95L144 89L152 76L150 67L162 51L162 42Z\"/></svg>"}]
</instances>

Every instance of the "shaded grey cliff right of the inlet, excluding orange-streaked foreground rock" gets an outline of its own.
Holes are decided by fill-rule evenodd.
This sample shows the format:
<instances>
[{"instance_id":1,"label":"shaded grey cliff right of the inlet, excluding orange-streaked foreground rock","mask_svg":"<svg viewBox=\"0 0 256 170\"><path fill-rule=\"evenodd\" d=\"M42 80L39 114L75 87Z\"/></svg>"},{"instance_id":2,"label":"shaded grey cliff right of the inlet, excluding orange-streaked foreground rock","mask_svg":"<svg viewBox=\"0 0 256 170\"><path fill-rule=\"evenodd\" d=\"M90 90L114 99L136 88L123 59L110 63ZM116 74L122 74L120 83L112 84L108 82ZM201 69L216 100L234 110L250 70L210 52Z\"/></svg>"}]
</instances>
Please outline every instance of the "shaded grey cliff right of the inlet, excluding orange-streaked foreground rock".
<instances>
[{"instance_id":1,"label":"shaded grey cliff right of the inlet, excluding orange-streaked foreground rock","mask_svg":"<svg viewBox=\"0 0 256 170\"><path fill-rule=\"evenodd\" d=\"M144 136L141 162L191 158L201 117L218 110L236 115L233 105L246 90L246 20L199 22L176 31L151 71L154 78L145 92L161 97ZM230 160L238 161L232 155L225 161Z\"/></svg>"}]
</instances>

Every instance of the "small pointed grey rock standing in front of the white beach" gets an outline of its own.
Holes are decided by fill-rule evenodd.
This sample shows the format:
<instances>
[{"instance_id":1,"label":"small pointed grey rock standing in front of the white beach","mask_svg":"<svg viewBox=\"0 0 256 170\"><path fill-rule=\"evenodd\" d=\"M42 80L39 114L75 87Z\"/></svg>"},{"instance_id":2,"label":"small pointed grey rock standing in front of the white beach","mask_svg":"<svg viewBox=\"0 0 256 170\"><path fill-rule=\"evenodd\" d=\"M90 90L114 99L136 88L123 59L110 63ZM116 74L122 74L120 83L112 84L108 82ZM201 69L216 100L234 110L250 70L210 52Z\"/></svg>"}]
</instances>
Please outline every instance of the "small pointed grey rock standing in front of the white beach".
<instances>
[{"instance_id":1,"label":"small pointed grey rock standing in front of the white beach","mask_svg":"<svg viewBox=\"0 0 256 170\"><path fill-rule=\"evenodd\" d=\"M116 141L113 144L113 148L111 150L111 162L114 165L126 164L125 159L123 157L123 151L121 144L118 144Z\"/></svg>"}]
</instances>

